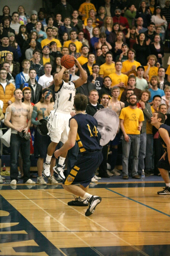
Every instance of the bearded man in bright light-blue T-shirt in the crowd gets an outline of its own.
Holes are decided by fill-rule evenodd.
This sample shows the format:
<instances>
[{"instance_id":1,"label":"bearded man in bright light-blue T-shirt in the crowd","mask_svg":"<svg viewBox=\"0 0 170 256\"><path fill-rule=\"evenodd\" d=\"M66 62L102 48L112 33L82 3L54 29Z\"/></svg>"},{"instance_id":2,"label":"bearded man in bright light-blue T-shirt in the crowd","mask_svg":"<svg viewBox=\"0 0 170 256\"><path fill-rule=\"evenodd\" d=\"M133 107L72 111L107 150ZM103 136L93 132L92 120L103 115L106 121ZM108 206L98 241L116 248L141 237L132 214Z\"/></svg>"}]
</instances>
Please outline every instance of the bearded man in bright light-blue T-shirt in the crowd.
<instances>
[{"instance_id":1,"label":"bearded man in bright light-blue T-shirt in the crowd","mask_svg":"<svg viewBox=\"0 0 170 256\"><path fill-rule=\"evenodd\" d=\"M164 96L164 91L158 88L158 85L160 84L158 76L152 76L150 79L151 88L149 88L149 91L151 93L151 97L149 99L149 103L152 103L153 97L155 95L160 95L161 97Z\"/></svg>"}]
</instances>

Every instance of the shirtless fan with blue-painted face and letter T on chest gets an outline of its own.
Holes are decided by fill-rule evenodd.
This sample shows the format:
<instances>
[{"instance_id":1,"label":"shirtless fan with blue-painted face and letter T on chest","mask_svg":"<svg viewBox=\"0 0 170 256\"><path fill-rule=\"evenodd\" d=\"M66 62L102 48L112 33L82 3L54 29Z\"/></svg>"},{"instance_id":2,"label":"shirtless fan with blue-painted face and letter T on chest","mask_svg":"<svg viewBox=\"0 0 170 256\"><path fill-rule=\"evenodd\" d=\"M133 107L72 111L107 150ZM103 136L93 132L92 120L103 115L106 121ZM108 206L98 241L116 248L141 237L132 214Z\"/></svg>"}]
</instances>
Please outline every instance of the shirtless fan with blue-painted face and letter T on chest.
<instances>
[{"instance_id":1,"label":"shirtless fan with blue-painted face and letter T on chest","mask_svg":"<svg viewBox=\"0 0 170 256\"><path fill-rule=\"evenodd\" d=\"M54 102L52 99L52 91L50 88L45 88L42 91L42 96L39 102L37 102L33 107L33 113L31 116L31 122L34 125L41 125L41 122L39 120L45 119L47 120L50 111L53 110ZM36 120L37 117L37 120ZM40 143L41 142L41 143ZM47 182L42 177L42 170L43 170L43 163L44 158L46 158L47 155L47 149L50 145L51 140L49 135L41 135L37 127L35 129L35 141L34 141L34 156L35 158L38 158L37 160L37 170L38 170L38 177L37 182L41 185L46 185ZM51 184L57 184L57 180L53 177L53 167L55 166L56 159L54 155L51 158L51 164L50 164L50 173L51 177L48 178L48 182Z\"/></svg>"}]
</instances>

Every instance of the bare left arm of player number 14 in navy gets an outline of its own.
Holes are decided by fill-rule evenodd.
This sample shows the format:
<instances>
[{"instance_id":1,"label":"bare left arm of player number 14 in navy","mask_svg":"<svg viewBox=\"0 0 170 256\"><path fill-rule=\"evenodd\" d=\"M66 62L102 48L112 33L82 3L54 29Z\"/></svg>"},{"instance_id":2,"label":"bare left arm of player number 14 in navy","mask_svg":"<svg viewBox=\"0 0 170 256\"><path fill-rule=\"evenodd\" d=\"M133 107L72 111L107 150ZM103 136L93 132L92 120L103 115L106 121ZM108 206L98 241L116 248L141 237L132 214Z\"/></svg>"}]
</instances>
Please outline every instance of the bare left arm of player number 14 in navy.
<instances>
[{"instance_id":1,"label":"bare left arm of player number 14 in navy","mask_svg":"<svg viewBox=\"0 0 170 256\"><path fill-rule=\"evenodd\" d=\"M60 149L54 152L54 156L56 158L58 158L65 151L68 151L70 148L74 147L76 143L77 129L78 129L78 123L73 118L70 120L70 131L68 133L68 140L66 141L66 143L64 143L64 145Z\"/></svg>"}]
</instances>

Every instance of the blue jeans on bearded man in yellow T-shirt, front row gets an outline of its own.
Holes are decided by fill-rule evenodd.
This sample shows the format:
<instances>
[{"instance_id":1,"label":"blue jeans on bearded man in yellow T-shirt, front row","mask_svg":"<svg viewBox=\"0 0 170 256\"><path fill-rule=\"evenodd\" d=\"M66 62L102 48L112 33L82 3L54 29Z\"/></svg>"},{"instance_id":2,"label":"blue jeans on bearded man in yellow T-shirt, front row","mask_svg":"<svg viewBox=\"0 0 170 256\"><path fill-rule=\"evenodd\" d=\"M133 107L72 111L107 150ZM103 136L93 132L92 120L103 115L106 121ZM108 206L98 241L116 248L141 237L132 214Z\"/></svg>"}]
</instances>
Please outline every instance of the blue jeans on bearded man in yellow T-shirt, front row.
<instances>
[{"instance_id":1,"label":"blue jeans on bearded man in yellow T-shirt, front row","mask_svg":"<svg viewBox=\"0 0 170 256\"><path fill-rule=\"evenodd\" d=\"M140 134L127 134L130 138L129 142L126 142L124 137L122 140L122 176L129 176L128 162L129 154L132 148L133 164L132 164L132 177L138 175L138 156L140 147Z\"/></svg>"}]
</instances>

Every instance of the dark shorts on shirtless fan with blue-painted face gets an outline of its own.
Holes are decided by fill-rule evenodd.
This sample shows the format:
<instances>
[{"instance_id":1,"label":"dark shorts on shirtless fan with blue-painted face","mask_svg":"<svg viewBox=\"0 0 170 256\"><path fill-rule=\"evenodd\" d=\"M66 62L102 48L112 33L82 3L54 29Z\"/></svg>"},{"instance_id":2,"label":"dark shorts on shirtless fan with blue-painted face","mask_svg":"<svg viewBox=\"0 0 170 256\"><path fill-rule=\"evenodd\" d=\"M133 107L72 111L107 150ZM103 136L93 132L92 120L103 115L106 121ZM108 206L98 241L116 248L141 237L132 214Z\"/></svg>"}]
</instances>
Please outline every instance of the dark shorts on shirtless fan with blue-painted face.
<instances>
[{"instance_id":1,"label":"dark shorts on shirtless fan with blue-painted face","mask_svg":"<svg viewBox=\"0 0 170 256\"><path fill-rule=\"evenodd\" d=\"M35 129L35 137L34 137L34 157L35 158L46 158L47 149L50 145L51 140L49 135L41 135L37 128ZM54 154L52 157L55 157Z\"/></svg>"}]
</instances>

